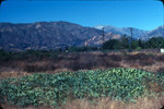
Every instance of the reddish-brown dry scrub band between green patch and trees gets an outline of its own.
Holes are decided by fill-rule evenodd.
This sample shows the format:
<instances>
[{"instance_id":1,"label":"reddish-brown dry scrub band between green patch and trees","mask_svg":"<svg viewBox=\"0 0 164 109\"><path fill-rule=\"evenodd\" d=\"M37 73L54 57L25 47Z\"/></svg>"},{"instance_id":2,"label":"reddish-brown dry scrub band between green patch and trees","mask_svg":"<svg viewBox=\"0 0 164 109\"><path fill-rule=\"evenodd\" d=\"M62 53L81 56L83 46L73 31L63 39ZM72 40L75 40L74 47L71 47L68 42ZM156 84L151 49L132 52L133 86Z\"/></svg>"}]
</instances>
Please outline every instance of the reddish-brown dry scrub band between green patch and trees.
<instances>
[{"instance_id":1,"label":"reddish-brown dry scrub band between green patch and trees","mask_svg":"<svg viewBox=\"0 0 164 109\"><path fill-rule=\"evenodd\" d=\"M57 72L109 68L136 68L151 72L164 71L164 55L160 53L61 53L42 60L24 59L0 62L0 66L21 72ZM1 70L2 71L2 70Z\"/></svg>"}]
</instances>

